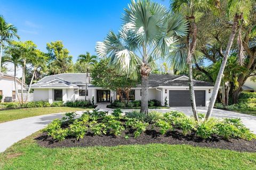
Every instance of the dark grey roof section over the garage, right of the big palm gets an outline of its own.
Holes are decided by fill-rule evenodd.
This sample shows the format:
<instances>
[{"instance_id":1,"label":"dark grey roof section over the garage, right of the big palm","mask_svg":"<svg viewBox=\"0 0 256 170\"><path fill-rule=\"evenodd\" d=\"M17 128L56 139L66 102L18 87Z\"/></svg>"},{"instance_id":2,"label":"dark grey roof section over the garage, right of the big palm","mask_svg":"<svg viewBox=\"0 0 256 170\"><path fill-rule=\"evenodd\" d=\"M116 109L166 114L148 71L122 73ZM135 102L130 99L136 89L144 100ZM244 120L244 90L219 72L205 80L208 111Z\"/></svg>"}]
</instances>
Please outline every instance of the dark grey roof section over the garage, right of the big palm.
<instances>
[{"instance_id":1,"label":"dark grey roof section over the garage, right of the big palm","mask_svg":"<svg viewBox=\"0 0 256 170\"><path fill-rule=\"evenodd\" d=\"M186 77L185 75L173 75L173 74L150 74L148 79L149 87L158 86L189 86L188 80L179 80L181 77ZM212 83L205 81L194 80L194 86L213 86ZM138 85L137 87L141 87Z\"/></svg>"}]
</instances>

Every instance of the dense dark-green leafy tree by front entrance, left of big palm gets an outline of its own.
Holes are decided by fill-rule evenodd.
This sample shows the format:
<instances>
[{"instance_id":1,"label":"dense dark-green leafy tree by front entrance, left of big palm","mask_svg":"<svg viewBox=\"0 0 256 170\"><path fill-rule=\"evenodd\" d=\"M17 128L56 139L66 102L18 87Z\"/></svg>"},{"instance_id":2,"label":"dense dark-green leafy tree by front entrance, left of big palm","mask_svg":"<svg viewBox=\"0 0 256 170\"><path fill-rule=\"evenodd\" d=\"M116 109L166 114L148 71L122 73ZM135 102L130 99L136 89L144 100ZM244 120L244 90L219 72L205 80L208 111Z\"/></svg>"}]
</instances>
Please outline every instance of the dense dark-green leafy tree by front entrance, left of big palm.
<instances>
[{"instance_id":1,"label":"dense dark-green leafy tree by front entrance, left of big palm","mask_svg":"<svg viewBox=\"0 0 256 170\"><path fill-rule=\"evenodd\" d=\"M122 90L125 91L126 96L129 97L130 89L136 87L139 82L127 78L127 75L125 74L118 73L116 69L109 67L108 63L108 59L102 58L94 65L91 70L92 84L97 87L117 91L123 101Z\"/></svg>"}]
</instances>

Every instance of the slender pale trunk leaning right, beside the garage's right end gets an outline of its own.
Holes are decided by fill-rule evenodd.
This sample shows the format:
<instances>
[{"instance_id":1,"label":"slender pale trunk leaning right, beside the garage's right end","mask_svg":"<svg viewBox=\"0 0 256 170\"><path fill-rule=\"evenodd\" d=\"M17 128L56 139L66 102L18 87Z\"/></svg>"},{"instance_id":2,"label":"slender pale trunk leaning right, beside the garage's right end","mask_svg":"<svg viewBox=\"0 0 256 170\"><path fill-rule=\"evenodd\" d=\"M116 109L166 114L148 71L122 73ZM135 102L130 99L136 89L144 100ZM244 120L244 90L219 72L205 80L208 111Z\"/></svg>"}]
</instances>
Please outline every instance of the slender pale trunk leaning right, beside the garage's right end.
<instances>
[{"instance_id":1,"label":"slender pale trunk leaning right, beside the garage's right end","mask_svg":"<svg viewBox=\"0 0 256 170\"><path fill-rule=\"evenodd\" d=\"M223 57L223 60L222 60L221 66L220 66L218 77L215 81L215 85L214 85L214 88L213 88L213 91L212 91L212 97L211 97L211 101L210 101L210 104L209 104L209 107L208 107L208 111L206 113L205 121L209 120L209 118L212 115L212 110L213 110L215 100L217 98L217 94L218 94L218 91L219 91L219 88L220 88L222 74L225 70L225 66L226 66L226 63L227 63L227 60L228 60L228 54L230 52L230 48L233 44L233 41L234 41L234 38L235 38L235 35L236 35L237 24L238 24L238 14L236 14L234 16L233 28L232 28L232 31L230 33L230 37L229 37L229 40L228 40L228 45L227 45L226 52L225 52L225 55Z\"/></svg>"}]
</instances>

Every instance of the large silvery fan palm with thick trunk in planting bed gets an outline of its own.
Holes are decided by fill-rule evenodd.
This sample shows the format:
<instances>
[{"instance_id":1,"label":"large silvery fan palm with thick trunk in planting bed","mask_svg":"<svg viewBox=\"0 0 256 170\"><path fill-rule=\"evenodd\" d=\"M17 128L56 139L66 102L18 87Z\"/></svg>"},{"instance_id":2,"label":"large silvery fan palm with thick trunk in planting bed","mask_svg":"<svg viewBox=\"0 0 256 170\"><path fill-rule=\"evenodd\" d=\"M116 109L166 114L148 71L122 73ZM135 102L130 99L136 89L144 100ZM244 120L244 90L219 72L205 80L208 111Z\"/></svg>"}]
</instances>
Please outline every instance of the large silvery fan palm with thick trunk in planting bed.
<instances>
[{"instance_id":1,"label":"large silvery fan palm with thick trunk in planting bed","mask_svg":"<svg viewBox=\"0 0 256 170\"><path fill-rule=\"evenodd\" d=\"M110 58L110 66L135 80L141 77L141 113L148 113L148 76L158 58L165 57L177 37L186 36L187 22L180 14L170 13L151 1L132 1L124 9L123 25L118 35L110 31L95 50Z\"/></svg>"}]
</instances>

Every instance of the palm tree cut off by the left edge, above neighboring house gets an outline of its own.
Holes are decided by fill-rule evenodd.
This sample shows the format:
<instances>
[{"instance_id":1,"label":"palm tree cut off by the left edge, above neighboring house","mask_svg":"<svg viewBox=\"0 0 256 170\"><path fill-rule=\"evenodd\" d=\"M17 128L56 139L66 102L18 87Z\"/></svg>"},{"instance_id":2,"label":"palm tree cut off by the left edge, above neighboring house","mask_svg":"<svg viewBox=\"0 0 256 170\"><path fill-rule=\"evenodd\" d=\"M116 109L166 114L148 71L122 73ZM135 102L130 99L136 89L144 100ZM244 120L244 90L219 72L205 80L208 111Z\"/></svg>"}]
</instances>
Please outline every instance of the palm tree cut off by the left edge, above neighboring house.
<instances>
[{"instance_id":1,"label":"palm tree cut off by the left edge, above neighboring house","mask_svg":"<svg viewBox=\"0 0 256 170\"><path fill-rule=\"evenodd\" d=\"M2 68L3 46L5 43L10 43L11 40L19 36L17 35L17 28L14 25L7 23L2 15L0 15L0 72Z\"/></svg>"}]
</instances>

